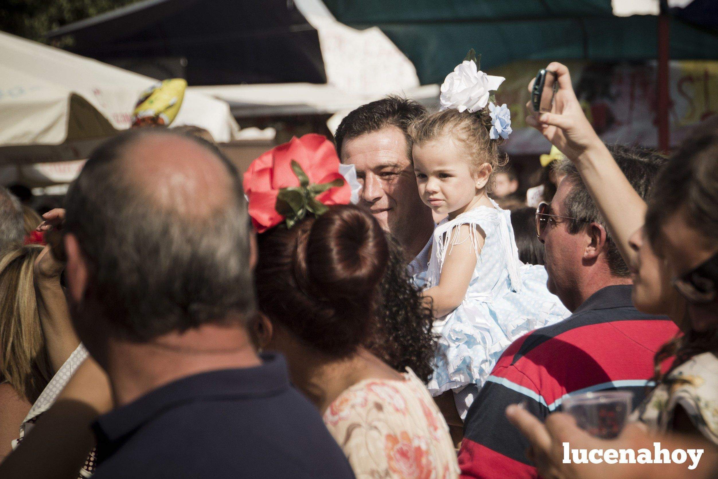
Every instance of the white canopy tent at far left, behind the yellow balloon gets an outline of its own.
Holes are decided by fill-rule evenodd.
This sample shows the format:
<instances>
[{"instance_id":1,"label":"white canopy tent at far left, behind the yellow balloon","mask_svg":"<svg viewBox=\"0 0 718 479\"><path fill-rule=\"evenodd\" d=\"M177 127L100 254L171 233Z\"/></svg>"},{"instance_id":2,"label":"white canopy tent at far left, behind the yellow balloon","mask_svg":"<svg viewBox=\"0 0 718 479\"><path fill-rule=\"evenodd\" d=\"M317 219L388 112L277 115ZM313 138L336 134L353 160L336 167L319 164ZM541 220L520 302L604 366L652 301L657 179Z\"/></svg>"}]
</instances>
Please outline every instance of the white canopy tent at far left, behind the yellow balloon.
<instances>
[{"instance_id":1,"label":"white canopy tent at far left, behind the yellow balloon","mask_svg":"<svg viewBox=\"0 0 718 479\"><path fill-rule=\"evenodd\" d=\"M130 126L140 93L157 82L55 47L0 32L0 164L88 157ZM185 93L172 126L196 125L216 141L239 131L229 106Z\"/></svg>"}]
</instances>

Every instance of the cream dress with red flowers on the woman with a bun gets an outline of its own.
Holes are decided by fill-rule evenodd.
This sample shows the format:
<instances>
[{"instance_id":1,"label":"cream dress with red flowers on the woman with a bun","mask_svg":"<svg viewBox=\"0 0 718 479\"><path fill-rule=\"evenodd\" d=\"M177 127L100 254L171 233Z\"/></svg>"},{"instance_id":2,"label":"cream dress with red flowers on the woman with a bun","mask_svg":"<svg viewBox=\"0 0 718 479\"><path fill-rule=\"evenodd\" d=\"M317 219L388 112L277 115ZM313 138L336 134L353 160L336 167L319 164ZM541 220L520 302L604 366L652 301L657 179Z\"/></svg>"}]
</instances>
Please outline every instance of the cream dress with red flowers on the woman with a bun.
<instances>
[{"instance_id":1,"label":"cream dress with red flowers on the woman with a bun","mask_svg":"<svg viewBox=\"0 0 718 479\"><path fill-rule=\"evenodd\" d=\"M324 414L357 479L457 478L449 427L411 369L404 381L368 379L344 391Z\"/></svg>"}]
</instances>

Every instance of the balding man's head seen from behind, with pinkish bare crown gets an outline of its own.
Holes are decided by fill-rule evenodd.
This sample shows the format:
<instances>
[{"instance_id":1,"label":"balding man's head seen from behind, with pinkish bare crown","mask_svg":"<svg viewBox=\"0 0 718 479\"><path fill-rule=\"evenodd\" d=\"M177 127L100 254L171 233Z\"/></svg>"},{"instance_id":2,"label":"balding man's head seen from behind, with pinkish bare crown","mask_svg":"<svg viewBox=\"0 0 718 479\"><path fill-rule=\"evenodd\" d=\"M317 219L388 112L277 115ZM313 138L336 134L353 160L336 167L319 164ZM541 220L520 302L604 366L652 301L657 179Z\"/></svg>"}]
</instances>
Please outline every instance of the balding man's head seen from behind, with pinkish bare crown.
<instances>
[{"instance_id":1,"label":"balding man's head seen from behind, with pinkish bare crown","mask_svg":"<svg viewBox=\"0 0 718 479\"><path fill-rule=\"evenodd\" d=\"M65 231L88 264L82 301L101 308L109 335L131 340L251 314L249 224L236 168L171 130L106 142L67 193ZM80 335L93 320L74 319Z\"/></svg>"}]
</instances>

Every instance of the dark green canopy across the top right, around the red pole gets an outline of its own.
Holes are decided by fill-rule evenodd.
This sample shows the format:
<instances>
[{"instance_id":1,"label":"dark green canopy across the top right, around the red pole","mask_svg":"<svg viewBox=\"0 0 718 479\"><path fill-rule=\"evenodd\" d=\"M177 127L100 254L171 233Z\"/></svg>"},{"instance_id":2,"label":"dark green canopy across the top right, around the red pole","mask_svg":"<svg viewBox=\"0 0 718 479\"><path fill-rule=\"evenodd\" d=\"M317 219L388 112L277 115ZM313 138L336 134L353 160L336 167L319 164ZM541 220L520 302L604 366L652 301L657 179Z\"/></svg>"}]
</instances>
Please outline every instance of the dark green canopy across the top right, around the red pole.
<instances>
[{"instance_id":1,"label":"dark green canopy across the top right, around the red pole","mask_svg":"<svg viewBox=\"0 0 718 479\"><path fill-rule=\"evenodd\" d=\"M324 0L355 28L380 27L414 62L422 84L442 83L470 48L481 68L514 60L658 57L658 17L616 17L611 0ZM718 57L718 30L672 18L675 60Z\"/></svg>"}]
</instances>

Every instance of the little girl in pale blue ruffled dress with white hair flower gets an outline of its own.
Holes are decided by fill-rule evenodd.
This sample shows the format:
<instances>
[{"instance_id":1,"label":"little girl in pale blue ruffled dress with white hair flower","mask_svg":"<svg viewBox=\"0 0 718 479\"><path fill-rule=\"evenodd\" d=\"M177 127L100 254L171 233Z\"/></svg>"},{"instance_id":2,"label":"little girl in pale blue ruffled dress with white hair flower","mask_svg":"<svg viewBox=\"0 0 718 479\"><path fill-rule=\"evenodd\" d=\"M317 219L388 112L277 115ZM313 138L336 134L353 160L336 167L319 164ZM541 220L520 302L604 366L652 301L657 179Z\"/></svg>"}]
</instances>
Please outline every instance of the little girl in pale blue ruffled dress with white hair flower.
<instances>
[{"instance_id":1,"label":"little girl in pale blue ruffled dress with white hair flower","mask_svg":"<svg viewBox=\"0 0 718 479\"><path fill-rule=\"evenodd\" d=\"M477 71L474 62L457 70L462 66L478 76L477 83L481 75L489 85L498 78ZM510 213L488 197L493 172L503 163L500 137L510 133L508 110L488 103L488 93L476 101L480 88L452 103L451 85L444 86L442 106L448 109L416 121L411 139L421 199L434 213L448 215L434 231L424 291L441 333L428 387L434 396L453 390L464 419L505 348L569 312L546 289L544 267L518 259Z\"/></svg>"}]
</instances>

